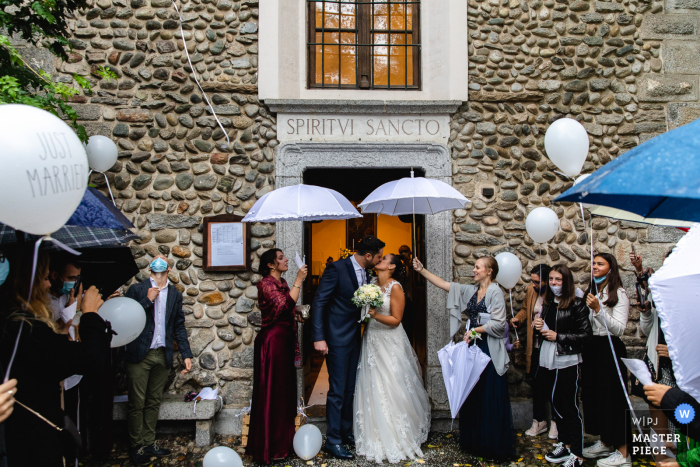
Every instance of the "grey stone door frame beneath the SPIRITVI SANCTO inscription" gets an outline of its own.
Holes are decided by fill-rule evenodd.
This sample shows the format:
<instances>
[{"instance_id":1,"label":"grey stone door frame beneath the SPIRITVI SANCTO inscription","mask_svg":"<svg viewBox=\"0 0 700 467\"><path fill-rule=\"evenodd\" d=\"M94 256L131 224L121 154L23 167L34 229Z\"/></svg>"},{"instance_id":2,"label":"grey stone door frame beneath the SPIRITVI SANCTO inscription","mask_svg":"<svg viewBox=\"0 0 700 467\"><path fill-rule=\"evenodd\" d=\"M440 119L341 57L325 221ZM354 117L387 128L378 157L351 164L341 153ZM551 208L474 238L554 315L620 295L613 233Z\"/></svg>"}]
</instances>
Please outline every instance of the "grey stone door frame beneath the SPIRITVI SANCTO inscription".
<instances>
[{"instance_id":1,"label":"grey stone door frame beneath the SPIRITVI SANCTO inscription","mask_svg":"<svg viewBox=\"0 0 700 467\"><path fill-rule=\"evenodd\" d=\"M276 187L299 184L307 168L421 168L425 176L452 184L452 161L447 146L438 143L358 143L308 142L283 143L275 161ZM287 254L303 251L301 222L279 222L276 226L277 247ZM452 213L425 216L426 265L439 277L452 281ZM290 261L287 277L295 277L296 266ZM427 371L426 388L436 406L447 402L437 352L450 339L447 293L427 285ZM298 370L298 395L303 395L303 370Z\"/></svg>"}]
</instances>

